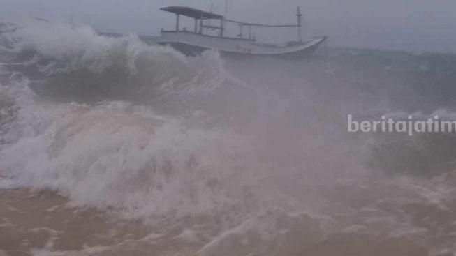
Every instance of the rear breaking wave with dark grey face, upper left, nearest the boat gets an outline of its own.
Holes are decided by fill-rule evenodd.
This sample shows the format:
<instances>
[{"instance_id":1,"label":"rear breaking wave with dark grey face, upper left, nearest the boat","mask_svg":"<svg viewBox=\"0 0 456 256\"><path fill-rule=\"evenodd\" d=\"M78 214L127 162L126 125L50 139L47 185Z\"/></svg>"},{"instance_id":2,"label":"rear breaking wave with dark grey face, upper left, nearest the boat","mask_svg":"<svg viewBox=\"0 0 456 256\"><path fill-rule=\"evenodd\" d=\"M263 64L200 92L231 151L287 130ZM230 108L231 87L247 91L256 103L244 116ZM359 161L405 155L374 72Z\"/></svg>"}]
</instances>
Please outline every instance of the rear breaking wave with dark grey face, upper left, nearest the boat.
<instances>
[{"instance_id":1,"label":"rear breaking wave with dark grey face, upper left, nearest the boat","mask_svg":"<svg viewBox=\"0 0 456 256\"><path fill-rule=\"evenodd\" d=\"M1 34L8 69L26 75L34 91L70 100L189 100L234 78L218 54L186 58L138 36L101 36L90 27L34 22Z\"/></svg>"}]
</instances>

